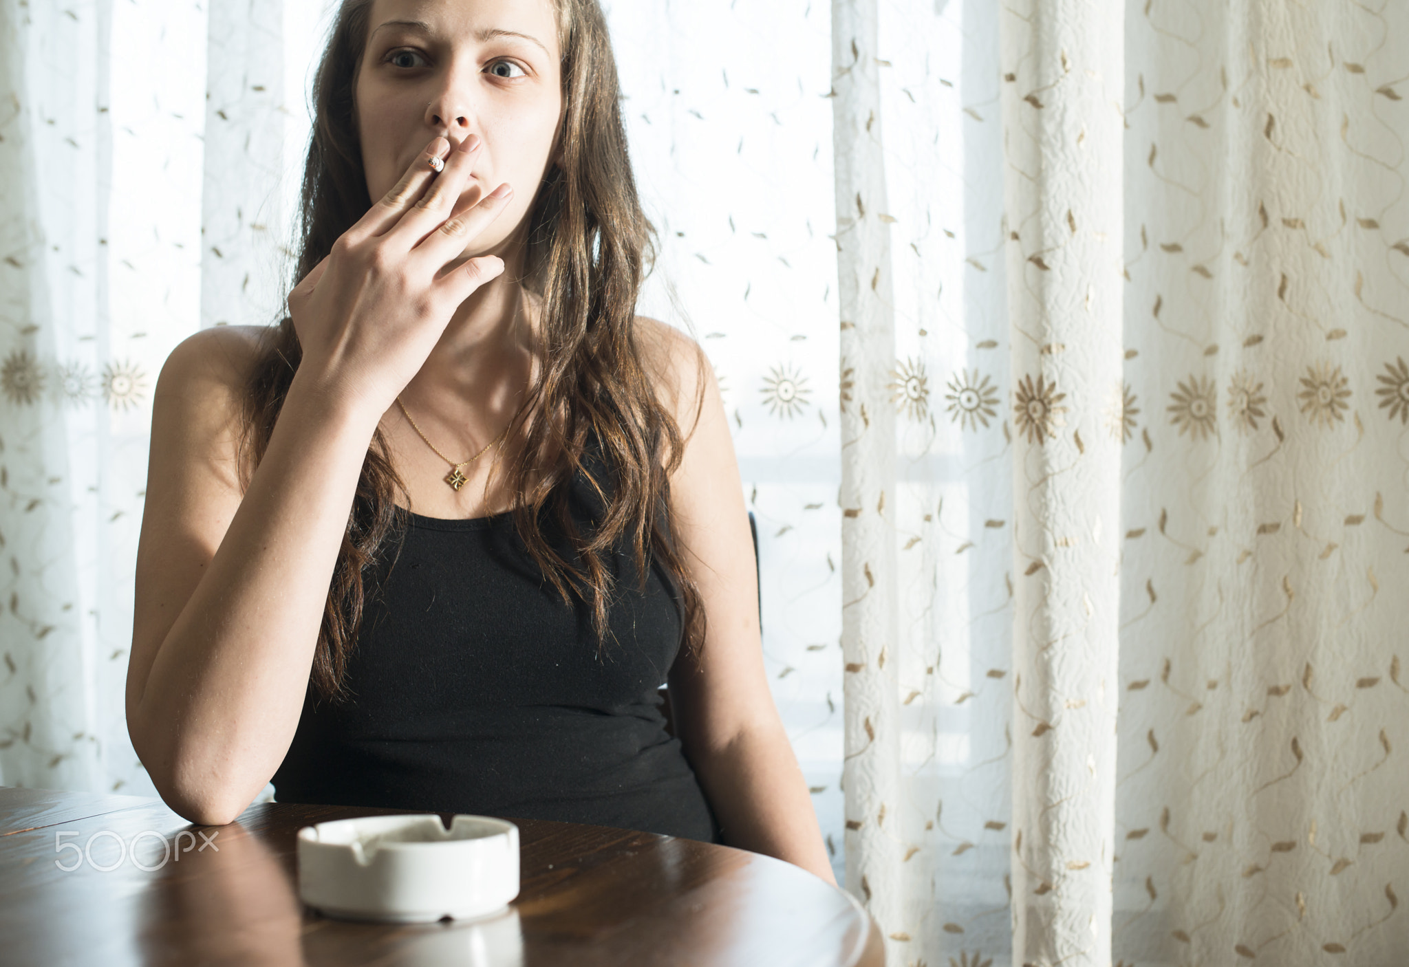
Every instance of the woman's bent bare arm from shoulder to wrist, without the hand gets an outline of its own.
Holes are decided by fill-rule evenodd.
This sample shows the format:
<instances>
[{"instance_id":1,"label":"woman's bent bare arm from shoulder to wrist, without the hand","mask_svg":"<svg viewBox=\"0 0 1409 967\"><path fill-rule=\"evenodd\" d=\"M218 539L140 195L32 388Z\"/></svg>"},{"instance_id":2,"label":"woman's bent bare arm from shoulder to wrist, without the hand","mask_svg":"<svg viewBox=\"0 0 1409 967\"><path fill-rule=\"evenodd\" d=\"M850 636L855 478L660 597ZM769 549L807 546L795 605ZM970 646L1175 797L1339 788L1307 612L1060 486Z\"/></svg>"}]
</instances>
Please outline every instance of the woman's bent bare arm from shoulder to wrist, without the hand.
<instances>
[{"instance_id":1,"label":"woman's bent bare arm from shoulder to wrist, without the hand","mask_svg":"<svg viewBox=\"0 0 1409 967\"><path fill-rule=\"evenodd\" d=\"M192 822L231 822L278 770L378 417L294 377L241 500L238 393L249 332L207 329L152 403L127 677L132 746Z\"/></svg>"}]
</instances>

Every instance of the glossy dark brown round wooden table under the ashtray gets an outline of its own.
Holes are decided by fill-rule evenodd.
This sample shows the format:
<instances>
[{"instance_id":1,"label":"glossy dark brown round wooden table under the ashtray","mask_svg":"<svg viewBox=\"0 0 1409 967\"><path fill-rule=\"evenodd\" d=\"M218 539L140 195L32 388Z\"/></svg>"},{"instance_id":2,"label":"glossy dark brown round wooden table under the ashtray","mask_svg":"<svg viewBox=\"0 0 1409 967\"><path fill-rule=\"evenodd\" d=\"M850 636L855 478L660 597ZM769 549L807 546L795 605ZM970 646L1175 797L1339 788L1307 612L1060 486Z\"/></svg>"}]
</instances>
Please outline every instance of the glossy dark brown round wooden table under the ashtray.
<instances>
[{"instance_id":1,"label":"glossy dark brown round wooden table under the ashtray","mask_svg":"<svg viewBox=\"0 0 1409 967\"><path fill-rule=\"evenodd\" d=\"M513 821L521 888L497 918L355 923L324 918L299 901L299 828L396 812L404 811L262 802L228 826L196 826L161 799L0 787L0 963L885 961L881 935L861 906L789 863L688 839L537 819Z\"/></svg>"}]
</instances>

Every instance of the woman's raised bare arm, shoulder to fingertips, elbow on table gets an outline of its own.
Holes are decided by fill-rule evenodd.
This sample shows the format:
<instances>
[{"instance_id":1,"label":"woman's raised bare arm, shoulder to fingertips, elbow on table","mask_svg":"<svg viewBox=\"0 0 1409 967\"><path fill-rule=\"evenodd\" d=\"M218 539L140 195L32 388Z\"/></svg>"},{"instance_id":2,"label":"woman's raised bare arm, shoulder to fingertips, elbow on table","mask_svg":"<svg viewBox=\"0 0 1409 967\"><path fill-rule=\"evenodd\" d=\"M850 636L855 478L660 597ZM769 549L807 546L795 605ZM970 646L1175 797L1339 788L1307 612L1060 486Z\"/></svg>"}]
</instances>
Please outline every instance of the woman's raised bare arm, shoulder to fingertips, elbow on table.
<instances>
[{"instance_id":1,"label":"woman's raised bare arm, shoulder to fingertips, elbow on table","mask_svg":"<svg viewBox=\"0 0 1409 967\"><path fill-rule=\"evenodd\" d=\"M187 819L232 821L283 761L372 434L455 308L504 269L465 258L509 198L466 190L473 153L471 138L433 138L289 294L303 358L242 497L248 334L197 334L162 367L127 728Z\"/></svg>"}]
</instances>

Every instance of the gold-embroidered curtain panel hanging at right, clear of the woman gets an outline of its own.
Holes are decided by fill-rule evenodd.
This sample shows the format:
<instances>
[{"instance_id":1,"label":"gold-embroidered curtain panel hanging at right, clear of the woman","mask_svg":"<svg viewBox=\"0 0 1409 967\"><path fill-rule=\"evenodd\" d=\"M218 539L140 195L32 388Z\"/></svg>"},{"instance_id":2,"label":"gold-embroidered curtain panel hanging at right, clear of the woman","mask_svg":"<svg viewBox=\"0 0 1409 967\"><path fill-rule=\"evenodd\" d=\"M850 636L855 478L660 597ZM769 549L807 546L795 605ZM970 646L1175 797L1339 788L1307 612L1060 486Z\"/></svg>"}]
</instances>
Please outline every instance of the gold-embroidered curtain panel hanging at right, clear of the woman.
<instances>
[{"instance_id":1,"label":"gold-embroidered curtain panel hanging at right, clear of the woman","mask_svg":"<svg viewBox=\"0 0 1409 967\"><path fill-rule=\"evenodd\" d=\"M833 4L847 884L895 964L1395 963L1409 10L937 7Z\"/></svg>"}]
</instances>

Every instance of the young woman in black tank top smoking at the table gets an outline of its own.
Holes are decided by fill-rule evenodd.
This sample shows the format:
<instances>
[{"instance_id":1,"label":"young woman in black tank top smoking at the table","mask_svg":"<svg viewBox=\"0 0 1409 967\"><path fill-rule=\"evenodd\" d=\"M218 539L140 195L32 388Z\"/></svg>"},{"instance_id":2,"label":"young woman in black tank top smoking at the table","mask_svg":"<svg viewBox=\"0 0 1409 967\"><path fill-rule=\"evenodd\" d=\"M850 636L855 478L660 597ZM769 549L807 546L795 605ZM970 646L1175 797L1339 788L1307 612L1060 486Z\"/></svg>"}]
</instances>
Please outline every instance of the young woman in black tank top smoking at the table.
<instances>
[{"instance_id":1,"label":"young woman in black tank top smoking at the table","mask_svg":"<svg viewBox=\"0 0 1409 967\"><path fill-rule=\"evenodd\" d=\"M272 778L833 881L712 370L634 314L596 0L344 0L314 99L287 318L186 339L155 393L127 716L158 791L221 825Z\"/></svg>"}]
</instances>

